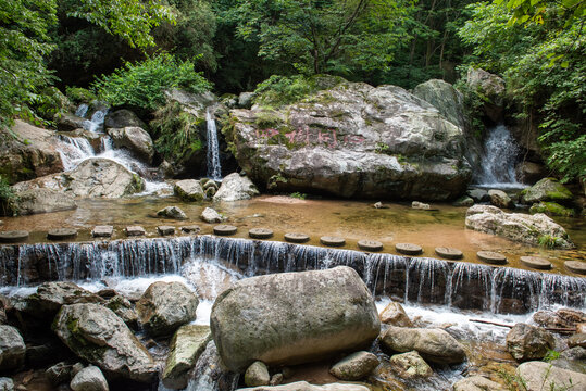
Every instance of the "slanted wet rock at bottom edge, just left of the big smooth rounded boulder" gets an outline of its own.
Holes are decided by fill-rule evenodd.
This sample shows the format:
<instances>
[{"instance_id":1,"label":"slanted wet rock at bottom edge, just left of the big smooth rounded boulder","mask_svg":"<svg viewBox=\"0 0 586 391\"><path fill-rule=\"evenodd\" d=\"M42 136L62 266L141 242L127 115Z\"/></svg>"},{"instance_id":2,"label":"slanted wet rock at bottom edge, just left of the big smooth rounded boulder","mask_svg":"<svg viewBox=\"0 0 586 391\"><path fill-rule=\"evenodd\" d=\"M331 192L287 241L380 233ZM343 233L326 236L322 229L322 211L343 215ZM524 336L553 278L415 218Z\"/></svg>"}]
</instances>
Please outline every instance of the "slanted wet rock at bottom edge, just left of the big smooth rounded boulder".
<instances>
[{"instance_id":1,"label":"slanted wet rock at bottom edge, just left of the big smooth rounded boulder","mask_svg":"<svg viewBox=\"0 0 586 391\"><path fill-rule=\"evenodd\" d=\"M170 353L161 377L163 386L174 390L186 388L189 370L196 366L211 339L212 335L208 326L179 327L170 344Z\"/></svg>"}]
</instances>

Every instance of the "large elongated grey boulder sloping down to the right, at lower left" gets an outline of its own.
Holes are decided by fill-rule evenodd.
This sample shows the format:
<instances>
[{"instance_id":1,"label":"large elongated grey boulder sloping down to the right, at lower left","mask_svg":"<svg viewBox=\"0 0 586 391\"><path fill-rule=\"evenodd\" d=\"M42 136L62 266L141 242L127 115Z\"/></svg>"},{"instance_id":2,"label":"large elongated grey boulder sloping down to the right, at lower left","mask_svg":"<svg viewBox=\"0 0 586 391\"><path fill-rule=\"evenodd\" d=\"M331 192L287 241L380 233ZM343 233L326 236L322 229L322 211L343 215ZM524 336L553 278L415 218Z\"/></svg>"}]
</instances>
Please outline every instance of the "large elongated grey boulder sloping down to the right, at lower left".
<instances>
[{"instance_id":1,"label":"large elongated grey boulder sloping down to the right, at lower left","mask_svg":"<svg viewBox=\"0 0 586 391\"><path fill-rule=\"evenodd\" d=\"M98 304L64 305L53 330L79 357L99 366L107 375L150 382L157 367L124 321Z\"/></svg>"}]
</instances>

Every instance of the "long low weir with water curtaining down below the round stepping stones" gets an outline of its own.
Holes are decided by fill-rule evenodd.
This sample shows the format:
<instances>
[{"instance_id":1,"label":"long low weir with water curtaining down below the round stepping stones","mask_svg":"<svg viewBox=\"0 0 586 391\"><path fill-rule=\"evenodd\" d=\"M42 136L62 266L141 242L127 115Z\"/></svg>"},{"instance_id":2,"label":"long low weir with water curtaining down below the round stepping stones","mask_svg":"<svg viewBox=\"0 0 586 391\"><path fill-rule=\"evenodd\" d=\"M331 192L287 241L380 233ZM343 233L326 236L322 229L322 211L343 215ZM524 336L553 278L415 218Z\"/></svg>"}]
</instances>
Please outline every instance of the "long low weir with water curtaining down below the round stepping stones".
<instances>
[{"instance_id":1,"label":"long low weir with water curtaining down below the round stepping stones","mask_svg":"<svg viewBox=\"0 0 586 391\"><path fill-rule=\"evenodd\" d=\"M213 236L1 245L0 283L180 274L194 262L219 262L245 277L346 265L375 295L462 310L524 314L586 305L586 279L578 277Z\"/></svg>"}]
</instances>

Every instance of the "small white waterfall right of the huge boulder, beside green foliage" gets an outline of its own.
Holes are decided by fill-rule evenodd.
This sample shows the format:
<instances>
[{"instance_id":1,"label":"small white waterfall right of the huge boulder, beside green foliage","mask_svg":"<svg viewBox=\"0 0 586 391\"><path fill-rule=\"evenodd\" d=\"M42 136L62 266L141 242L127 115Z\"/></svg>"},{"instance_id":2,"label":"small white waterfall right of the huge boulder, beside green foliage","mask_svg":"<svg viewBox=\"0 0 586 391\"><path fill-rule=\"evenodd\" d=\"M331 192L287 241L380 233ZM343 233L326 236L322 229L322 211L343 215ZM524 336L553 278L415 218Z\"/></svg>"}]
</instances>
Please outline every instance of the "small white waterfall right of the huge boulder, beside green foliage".
<instances>
[{"instance_id":1,"label":"small white waterfall right of the huge boulder, beside green foliage","mask_svg":"<svg viewBox=\"0 0 586 391\"><path fill-rule=\"evenodd\" d=\"M514 169L518 157L519 147L507 126L490 128L484 143L482 172L477 173L475 181L497 188L521 187Z\"/></svg>"}]
</instances>

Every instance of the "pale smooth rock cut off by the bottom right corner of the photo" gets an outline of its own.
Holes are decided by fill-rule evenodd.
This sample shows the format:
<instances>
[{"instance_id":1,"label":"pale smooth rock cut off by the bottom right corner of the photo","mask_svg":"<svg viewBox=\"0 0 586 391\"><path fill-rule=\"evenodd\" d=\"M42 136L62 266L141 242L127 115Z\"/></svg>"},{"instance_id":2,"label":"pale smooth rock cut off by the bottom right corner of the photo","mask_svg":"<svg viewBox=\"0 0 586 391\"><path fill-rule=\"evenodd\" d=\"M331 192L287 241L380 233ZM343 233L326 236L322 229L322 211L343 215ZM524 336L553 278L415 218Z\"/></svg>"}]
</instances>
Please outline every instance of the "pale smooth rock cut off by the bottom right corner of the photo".
<instances>
[{"instance_id":1,"label":"pale smooth rock cut off by the bottom right corner of the photo","mask_svg":"<svg viewBox=\"0 0 586 391\"><path fill-rule=\"evenodd\" d=\"M536 361L521 364L516 368L516 375L523 379L527 391L572 390L574 384L586 384L584 374Z\"/></svg>"}]
</instances>

